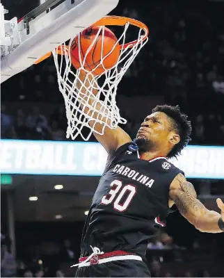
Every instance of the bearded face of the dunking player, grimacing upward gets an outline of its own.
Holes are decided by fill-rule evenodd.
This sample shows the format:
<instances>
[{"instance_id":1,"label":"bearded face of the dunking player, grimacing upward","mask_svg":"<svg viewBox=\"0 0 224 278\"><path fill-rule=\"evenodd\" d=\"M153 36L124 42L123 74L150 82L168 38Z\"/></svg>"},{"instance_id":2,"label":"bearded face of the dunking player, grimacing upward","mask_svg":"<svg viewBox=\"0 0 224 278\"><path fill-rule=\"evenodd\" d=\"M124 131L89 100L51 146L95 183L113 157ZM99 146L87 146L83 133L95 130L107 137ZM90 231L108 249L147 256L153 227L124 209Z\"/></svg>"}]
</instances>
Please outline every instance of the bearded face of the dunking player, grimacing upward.
<instances>
[{"instance_id":1,"label":"bearded face of the dunking player, grimacing upward","mask_svg":"<svg viewBox=\"0 0 224 278\"><path fill-rule=\"evenodd\" d=\"M155 112L145 117L136 136L136 142L145 145L146 149L152 147L166 147L170 141L170 120L165 113ZM144 150L144 148L143 148Z\"/></svg>"}]
</instances>

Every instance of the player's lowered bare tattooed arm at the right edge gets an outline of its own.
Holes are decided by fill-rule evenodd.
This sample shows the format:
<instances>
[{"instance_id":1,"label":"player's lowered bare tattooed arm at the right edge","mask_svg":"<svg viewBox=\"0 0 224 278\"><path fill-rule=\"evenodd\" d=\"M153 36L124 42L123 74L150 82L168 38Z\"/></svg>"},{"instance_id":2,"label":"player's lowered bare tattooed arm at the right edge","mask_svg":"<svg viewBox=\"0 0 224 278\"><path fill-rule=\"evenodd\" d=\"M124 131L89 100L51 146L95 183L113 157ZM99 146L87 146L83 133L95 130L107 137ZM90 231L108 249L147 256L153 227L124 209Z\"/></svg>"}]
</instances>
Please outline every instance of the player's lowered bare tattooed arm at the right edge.
<instances>
[{"instance_id":1,"label":"player's lowered bare tattooed arm at the right edge","mask_svg":"<svg viewBox=\"0 0 224 278\"><path fill-rule=\"evenodd\" d=\"M198 199L193 185L186 181L183 174L177 177L170 185L170 199L175 202L179 212L195 226L196 229L207 233L221 233L218 222L224 220L224 204L217 199L221 214L209 211ZM220 220L221 219L221 220Z\"/></svg>"}]
</instances>

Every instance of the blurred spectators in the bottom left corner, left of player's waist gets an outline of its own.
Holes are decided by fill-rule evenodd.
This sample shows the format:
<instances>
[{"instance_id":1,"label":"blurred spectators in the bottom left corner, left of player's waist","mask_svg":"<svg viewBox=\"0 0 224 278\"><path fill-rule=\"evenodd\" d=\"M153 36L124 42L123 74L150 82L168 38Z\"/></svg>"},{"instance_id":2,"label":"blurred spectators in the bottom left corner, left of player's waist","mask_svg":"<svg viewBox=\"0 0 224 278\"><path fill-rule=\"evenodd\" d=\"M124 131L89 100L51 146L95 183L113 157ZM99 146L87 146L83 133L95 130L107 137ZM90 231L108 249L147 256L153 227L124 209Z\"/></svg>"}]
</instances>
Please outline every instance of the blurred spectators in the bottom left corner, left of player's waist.
<instances>
[{"instance_id":1,"label":"blurred spectators in the bottom left corner, left of player's waist","mask_svg":"<svg viewBox=\"0 0 224 278\"><path fill-rule=\"evenodd\" d=\"M31 247L34 252L26 252L24 247L25 256L15 259L10 252L10 238L1 234L1 277L67 277L65 273L77 259L70 240L60 244L46 241L42 247L43 252L41 247Z\"/></svg>"}]
</instances>

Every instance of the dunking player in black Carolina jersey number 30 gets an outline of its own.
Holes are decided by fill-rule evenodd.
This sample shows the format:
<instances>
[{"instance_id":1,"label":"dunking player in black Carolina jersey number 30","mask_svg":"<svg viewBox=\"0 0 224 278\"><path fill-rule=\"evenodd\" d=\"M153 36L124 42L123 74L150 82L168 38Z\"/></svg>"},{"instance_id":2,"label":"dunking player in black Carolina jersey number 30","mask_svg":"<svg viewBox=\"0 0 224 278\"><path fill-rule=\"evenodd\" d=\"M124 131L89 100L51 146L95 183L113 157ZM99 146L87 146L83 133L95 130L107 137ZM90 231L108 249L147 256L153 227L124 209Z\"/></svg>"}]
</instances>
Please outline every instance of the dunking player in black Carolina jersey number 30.
<instances>
[{"instance_id":1,"label":"dunking player in black Carolina jersey number 30","mask_svg":"<svg viewBox=\"0 0 224 278\"><path fill-rule=\"evenodd\" d=\"M85 74L79 77L88 86ZM81 97L88 97L84 93L82 88ZM99 111L100 103L96 107ZM95 128L101 131L102 126ZM168 161L186 147L190 135L187 116L178 106L167 105L145 117L134 142L120 127L106 128L103 136L95 134L108 160L83 229L77 277L150 277L143 262L147 243L164 226L162 220L173 204L199 231L224 231L221 199L221 214L209 211L184 172Z\"/></svg>"}]
</instances>

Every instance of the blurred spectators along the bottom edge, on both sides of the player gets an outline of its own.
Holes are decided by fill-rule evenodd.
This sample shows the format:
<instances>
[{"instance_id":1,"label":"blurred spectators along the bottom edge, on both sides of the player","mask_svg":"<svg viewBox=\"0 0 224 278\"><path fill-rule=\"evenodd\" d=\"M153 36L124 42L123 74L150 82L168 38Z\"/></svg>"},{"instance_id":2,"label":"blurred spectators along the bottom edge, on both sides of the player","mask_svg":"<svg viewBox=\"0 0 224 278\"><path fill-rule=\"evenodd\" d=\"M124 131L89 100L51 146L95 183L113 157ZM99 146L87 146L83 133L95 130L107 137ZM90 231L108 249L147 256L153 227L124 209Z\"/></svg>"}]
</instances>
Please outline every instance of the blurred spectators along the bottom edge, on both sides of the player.
<instances>
[{"instance_id":1,"label":"blurred spectators along the bottom edge, on both sides of the player","mask_svg":"<svg viewBox=\"0 0 224 278\"><path fill-rule=\"evenodd\" d=\"M201 247L197 240L192 248L189 250L176 245L171 236L161 231L147 246L146 263L150 267L152 277L217 275L218 272L214 272L212 267L216 256L215 248L211 245L209 249ZM78 256L71 240L56 242L45 239L38 246L29 246L29 249L24 247L15 259L10 252L10 239L1 234L1 277L74 277L77 268L70 266L77 262ZM205 261L207 268L203 265Z\"/></svg>"}]
</instances>

